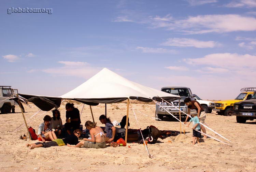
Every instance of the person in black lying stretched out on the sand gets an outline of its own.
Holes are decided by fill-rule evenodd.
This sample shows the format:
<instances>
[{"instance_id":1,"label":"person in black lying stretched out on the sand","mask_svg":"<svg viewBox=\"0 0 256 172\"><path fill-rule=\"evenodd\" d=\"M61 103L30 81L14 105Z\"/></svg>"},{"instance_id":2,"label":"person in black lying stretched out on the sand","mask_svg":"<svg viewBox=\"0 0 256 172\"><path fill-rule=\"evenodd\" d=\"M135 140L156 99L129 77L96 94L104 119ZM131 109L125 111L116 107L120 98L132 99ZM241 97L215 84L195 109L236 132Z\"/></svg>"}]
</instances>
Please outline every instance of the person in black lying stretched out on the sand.
<instances>
[{"instance_id":1,"label":"person in black lying stretched out on the sand","mask_svg":"<svg viewBox=\"0 0 256 172\"><path fill-rule=\"evenodd\" d=\"M79 129L76 129L74 131L74 134L68 135L65 139L55 139L51 142L37 142L33 144L26 144L27 147L30 149L36 148L36 147L51 147L51 146L65 146L67 144L76 145L79 143L78 138L81 135L81 131Z\"/></svg>"}]
</instances>

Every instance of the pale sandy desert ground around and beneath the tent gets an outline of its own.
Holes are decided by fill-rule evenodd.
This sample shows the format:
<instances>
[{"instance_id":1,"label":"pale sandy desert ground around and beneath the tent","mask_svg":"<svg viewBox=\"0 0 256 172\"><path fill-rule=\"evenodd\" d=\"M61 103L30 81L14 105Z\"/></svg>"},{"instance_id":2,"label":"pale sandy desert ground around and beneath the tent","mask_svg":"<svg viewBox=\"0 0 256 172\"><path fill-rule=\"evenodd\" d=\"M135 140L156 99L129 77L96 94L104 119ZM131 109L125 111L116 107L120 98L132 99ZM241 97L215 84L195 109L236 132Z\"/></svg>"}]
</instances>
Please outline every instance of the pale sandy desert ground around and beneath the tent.
<instances>
[{"instance_id":1,"label":"pale sandy desert ground around and beneath the tent","mask_svg":"<svg viewBox=\"0 0 256 172\"><path fill-rule=\"evenodd\" d=\"M25 106L25 117L28 119L39 109L31 105ZM82 104L75 104L80 111ZM155 116L154 104L133 104L133 107L147 114ZM112 121L120 121L126 114L126 104L108 104L108 116ZM60 107L62 120L65 121L65 106ZM104 104L93 106L95 120L99 126L103 126L98 120L104 114ZM35 116L29 126L36 132L38 125L43 122L45 114L40 112ZM139 126L130 109L130 128L145 129L154 125L160 130L180 130L179 122L156 121L150 117L137 113ZM85 105L82 116L82 124L86 120L92 120L88 105ZM50 148L36 148L30 150L26 143L37 141L20 140L19 136L26 134L25 127L15 130L23 123L22 113L16 108L15 114L0 114L0 171L255 171L256 169L256 122L247 121L246 124L236 123L235 116L221 116L215 113L207 114L206 123L215 131L223 134L231 140L232 146L206 139L196 145L191 144L192 130L185 128L186 135L158 139L156 144L148 144L148 150L153 158L147 155L145 146L138 143L128 143L126 147L107 147L104 149L73 148L58 146ZM28 120L29 121L29 120ZM207 130L208 133L217 137ZM217 137L221 139L220 137ZM223 139L221 139L223 140ZM224 141L224 140L223 140Z\"/></svg>"}]
</instances>

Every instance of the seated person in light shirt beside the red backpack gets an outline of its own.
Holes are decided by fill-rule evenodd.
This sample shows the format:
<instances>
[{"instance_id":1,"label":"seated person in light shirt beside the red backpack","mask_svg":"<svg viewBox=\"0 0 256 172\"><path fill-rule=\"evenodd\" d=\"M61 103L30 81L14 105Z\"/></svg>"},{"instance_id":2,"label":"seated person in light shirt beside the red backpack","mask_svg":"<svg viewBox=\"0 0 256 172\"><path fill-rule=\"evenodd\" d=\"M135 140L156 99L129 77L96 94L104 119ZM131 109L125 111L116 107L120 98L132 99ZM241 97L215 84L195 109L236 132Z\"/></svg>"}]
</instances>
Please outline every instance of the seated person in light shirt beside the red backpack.
<instances>
[{"instance_id":1,"label":"seated person in light shirt beside the red backpack","mask_svg":"<svg viewBox=\"0 0 256 172\"><path fill-rule=\"evenodd\" d=\"M44 122L39 125L38 128L38 140L39 141L51 141L57 139L56 134L52 131L51 116L45 115Z\"/></svg>"}]
</instances>

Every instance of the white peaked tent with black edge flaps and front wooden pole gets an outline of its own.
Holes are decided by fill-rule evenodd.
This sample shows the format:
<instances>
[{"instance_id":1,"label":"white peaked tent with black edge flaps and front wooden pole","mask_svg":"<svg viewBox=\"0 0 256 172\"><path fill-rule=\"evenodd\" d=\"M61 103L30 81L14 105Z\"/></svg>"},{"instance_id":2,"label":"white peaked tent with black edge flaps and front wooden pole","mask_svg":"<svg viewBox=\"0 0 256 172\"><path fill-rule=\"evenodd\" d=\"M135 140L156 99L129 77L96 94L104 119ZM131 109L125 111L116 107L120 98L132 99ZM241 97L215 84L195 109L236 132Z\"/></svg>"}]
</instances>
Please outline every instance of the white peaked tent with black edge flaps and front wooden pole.
<instances>
[{"instance_id":1,"label":"white peaked tent with black edge flaps and front wooden pole","mask_svg":"<svg viewBox=\"0 0 256 172\"><path fill-rule=\"evenodd\" d=\"M172 95L154 88L146 87L141 84L127 80L126 78L110 71L102 69L99 73L89 80L59 97L35 96L19 94L29 102L33 102L41 110L51 110L60 106L61 99L76 100L88 105L98 105L99 103L116 103L127 99L137 99L143 102L152 102L153 100L173 101L180 96ZM162 99L161 99L162 98ZM127 123L129 113L129 101L127 103ZM126 140L127 142L127 127Z\"/></svg>"}]
</instances>

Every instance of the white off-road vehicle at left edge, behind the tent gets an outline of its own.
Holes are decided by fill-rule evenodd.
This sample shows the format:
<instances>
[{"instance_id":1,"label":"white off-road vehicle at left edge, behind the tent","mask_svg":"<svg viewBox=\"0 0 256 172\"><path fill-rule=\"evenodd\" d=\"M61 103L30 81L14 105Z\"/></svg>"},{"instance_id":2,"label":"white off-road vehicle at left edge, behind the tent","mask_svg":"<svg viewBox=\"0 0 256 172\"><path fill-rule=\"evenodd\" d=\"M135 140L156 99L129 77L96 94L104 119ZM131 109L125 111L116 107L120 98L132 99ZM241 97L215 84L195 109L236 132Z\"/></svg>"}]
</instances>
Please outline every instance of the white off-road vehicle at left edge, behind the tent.
<instances>
[{"instance_id":1,"label":"white off-road vehicle at left edge, behind the tent","mask_svg":"<svg viewBox=\"0 0 256 172\"><path fill-rule=\"evenodd\" d=\"M17 89L12 89L11 86L0 86L0 110L2 114L15 113L15 101L9 100L8 97L18 93ZM5 100L6 99L6 100Z\"/></svg>"}]
</instances>

